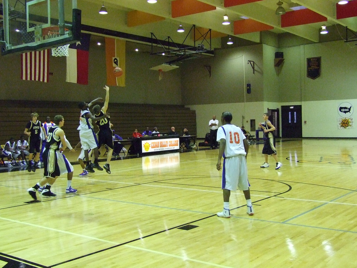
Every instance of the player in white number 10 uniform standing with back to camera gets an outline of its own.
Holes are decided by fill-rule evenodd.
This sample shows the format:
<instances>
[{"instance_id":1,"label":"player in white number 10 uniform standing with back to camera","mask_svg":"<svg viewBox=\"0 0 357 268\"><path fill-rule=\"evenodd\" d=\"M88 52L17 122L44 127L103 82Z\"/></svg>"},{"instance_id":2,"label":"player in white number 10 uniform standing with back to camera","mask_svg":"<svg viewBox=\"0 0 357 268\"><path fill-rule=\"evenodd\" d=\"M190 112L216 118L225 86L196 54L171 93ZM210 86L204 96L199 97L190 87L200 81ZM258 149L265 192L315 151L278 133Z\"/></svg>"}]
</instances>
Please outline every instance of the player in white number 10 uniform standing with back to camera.
<instances>
[{"instance_id":1,"label":"player in white number 10 uniform standing with back to camera","mask_svg":"<svg viewBox=\"0 0 357 268\"><path fill-rule=\"evenodd\" d=\"M243 131L231 124L232 114L230 112L222 113L222 126L217 131L217 142L220 142L218 152L218 161L216 168L222 170L222 189L223 189L223 211L218 212L218 217L230 218L229 198L231 191L237 188L244 193L247 201L247 213L253 215L252 200L250 199L250 190L247 171L247 154L249 144ZM223 167L221 159L223 157Z\"/></svg>"}]
</instances>

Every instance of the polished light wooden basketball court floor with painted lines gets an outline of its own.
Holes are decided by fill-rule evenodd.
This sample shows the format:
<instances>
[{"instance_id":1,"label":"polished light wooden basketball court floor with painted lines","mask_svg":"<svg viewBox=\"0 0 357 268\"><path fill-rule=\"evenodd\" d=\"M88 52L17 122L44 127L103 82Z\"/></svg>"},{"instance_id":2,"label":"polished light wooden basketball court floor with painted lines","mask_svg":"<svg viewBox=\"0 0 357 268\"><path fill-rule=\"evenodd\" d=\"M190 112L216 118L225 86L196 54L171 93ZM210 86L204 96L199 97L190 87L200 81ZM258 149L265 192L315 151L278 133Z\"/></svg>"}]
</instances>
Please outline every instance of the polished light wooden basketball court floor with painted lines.
<instances>
[{"instance_id":1,"label":"polished light wooden basketball court floor with painted lines","mask_svg":"<svg viewBox=\"0 0 357 268\"><path fill-rule=\"evenodd\" d=\"M0 173L0 267L357 267L355 140L276 145L279 170L250 146L255 214L237 191L229 219L217 150L124 158L110 175L74 165L78 194L63 176L36 203L41 169Z\"/></svg>"}]
</instances>

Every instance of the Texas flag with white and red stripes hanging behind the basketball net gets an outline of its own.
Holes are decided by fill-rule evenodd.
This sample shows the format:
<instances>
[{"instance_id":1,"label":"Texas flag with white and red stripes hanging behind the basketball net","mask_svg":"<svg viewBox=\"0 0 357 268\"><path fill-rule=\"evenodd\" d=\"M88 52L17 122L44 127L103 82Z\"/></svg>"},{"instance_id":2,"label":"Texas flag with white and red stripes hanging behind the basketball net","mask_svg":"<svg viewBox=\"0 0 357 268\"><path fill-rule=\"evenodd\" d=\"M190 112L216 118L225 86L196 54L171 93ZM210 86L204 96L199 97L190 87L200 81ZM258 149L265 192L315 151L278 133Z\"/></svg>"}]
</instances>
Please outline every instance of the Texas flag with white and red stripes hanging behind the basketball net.
<instances>
[{"instance_id":1,"label":"Texas flag with white and red stripes hanging behind the basketball net","mask_svg":"<svg viewBox=\"0 0 357 268\"><path fill-rule=\"evenodd\" d=\"M81 40L69 45L66 81L88 85L90 34L81 33Z\"/></svg>"}]
</instances>

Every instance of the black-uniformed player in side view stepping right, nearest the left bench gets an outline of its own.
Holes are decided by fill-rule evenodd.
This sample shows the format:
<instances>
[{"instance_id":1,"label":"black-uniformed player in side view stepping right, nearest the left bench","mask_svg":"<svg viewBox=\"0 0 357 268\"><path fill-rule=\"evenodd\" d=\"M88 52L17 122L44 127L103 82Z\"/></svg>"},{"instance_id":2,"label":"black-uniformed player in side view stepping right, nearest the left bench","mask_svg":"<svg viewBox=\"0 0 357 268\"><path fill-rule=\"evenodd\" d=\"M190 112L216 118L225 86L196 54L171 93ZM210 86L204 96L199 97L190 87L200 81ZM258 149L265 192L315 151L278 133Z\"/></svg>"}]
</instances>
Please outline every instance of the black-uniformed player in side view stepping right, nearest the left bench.
<instances>
[{"instance_id":1,"label":"black-uniformed player in side view stepping right, nearest the left bench","mask_svg":"<svg viewBox=\"0 0 357 268\"><path fill-rule=\"evenodd\" d=\"M46 184L45 189L42 191L42 195L47 197L55 197L56 194L51 192L51 185L55 183L57 177L61 174L60 168L57 162L57 153L58 150L65 150L67 148L65 133L61 129L65 120L62 115L56 115L54 118L55 126L52 126L48 130L48 138L46 142L46 147L44 153L42 154L44 160L44 177L30 189L27 189L27 192L31 197L37 200L36 191L43 185ZM60 148L60 144L62 147Z\"/></svg>"}]
</instances>

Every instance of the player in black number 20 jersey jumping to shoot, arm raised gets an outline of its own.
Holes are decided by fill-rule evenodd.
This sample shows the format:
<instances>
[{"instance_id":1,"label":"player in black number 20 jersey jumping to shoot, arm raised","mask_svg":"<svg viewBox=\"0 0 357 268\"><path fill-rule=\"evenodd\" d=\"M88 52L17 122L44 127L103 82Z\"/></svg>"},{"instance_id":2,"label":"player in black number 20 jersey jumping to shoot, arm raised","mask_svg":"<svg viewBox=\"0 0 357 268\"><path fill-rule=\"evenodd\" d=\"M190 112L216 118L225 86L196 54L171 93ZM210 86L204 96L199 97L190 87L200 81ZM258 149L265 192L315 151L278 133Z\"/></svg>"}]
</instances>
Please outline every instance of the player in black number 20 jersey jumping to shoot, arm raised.
<instances>
[{"instance_id":1,"label":"player in black number 20 jersey jumping to shoot, arm raised","mask_svg":"<svg viewBox=\"0 0 357 268\"><path fill-rule=\"evenodd\" d=\"M104 89L106 90L105 94L105 101L104 105L102 108L100 108L99 105L95 105L93 107L93 113L96 117L100 117L105 115L107 109L108 109L108 104L109 104L109 87L105 86ZM110 160L113 154L113 132L110 128L110 117L108 118L103 118L101 120L96 121L96 124L99 126L99 132L98 132L98 148L101 147L102 144L106 145L108 147L108 154L107 154L107 162L103 166L105 171L110 174Z\"/></svg>"}]
</instances>

